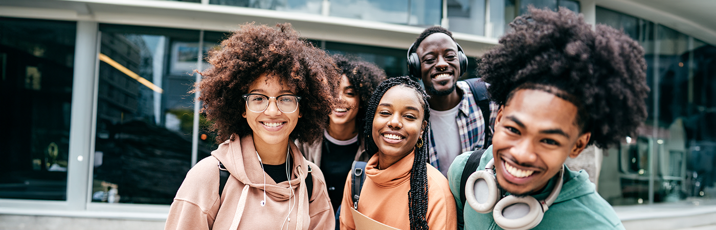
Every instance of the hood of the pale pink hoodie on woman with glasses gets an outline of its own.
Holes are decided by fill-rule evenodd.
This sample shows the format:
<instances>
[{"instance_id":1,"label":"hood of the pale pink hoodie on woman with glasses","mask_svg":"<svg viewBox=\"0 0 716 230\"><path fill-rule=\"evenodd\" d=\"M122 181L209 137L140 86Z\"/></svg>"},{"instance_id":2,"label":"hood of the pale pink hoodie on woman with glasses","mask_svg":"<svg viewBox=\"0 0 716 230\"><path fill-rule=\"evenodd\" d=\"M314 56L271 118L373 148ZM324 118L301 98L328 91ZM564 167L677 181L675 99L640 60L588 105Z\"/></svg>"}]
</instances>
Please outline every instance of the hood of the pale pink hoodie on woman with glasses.
<instances>
[{"instance_id":1,"label":"hood of the pale pink hoodie on woman with glasses","mask_svg":"<svg viewBox=\"0 0 716 230\"><path fill-rule=\"evenodd\" d=\"M236 136L236 135L235 135ZM305 163L303 155L293 141L289 141L289 154L291 154L291 191L299 188L301 181L304 180L308 174L308 166ZM258 161L256 156L256 148L253 146L253 135L246 135L241 138L234 140L226 140L226 142L219 145L217 150L211 152L211 155L216 157L226 170L231 173L231 176L241 181L248 186L263 190L266 188L267 195L274 196L276 198L289 199L291 191L289 191L289 181L281 183L274 182L270 176L266 175L266 184L263 183L265 173L261 168L261 162ZM299 177L299 171L302 171Z\"/></svg>"}]
</instances>

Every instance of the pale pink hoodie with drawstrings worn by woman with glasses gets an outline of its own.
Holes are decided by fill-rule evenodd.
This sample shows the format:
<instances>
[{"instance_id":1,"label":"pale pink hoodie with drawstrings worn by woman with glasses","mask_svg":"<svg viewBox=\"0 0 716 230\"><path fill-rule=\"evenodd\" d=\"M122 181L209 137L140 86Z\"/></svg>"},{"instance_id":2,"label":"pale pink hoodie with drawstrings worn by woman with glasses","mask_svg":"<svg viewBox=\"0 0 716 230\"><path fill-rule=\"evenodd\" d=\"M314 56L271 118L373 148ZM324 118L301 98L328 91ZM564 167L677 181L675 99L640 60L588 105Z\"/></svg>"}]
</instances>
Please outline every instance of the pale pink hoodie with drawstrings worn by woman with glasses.
<instances>
[{"instance_id":1,"label":"pale pink hoodie with drawstrings worn by woman with glasses","mask_svg":"<svg viewBox=\"0 0 716 230\"><path fill-rule=\"evenodd\" d=\"M227 140L187 173L164 229L334 229L335 217L323 173L301 155L293 142L289 143L293 159L291 189L289 181L276 184L268 175L263 184L264 172L251 135ZM221 200L219 160L231 173ZM307 166L311 166L314 180L310 201L304 183ZM261 206L264 188L266 206Z\"/></svg>"}]
</instances>

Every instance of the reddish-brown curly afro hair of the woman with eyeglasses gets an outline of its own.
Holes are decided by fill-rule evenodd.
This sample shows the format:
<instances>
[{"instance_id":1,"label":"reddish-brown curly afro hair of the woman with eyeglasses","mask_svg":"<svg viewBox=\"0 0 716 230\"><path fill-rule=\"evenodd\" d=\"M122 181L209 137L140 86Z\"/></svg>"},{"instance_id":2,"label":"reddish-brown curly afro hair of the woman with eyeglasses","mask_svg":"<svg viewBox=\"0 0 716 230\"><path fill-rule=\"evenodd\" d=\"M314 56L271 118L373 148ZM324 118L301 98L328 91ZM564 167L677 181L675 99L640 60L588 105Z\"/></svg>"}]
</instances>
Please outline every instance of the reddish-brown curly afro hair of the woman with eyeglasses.
<instances>
[{"instance_id":1,"label":"reddish-brown curly afro hair of the woman with eyeglasses","mask_svg":"<svg viewBox=\"0 0 716 230\"><path fill-rule=\"evenodd\" d=\"M303 115L289 138L315 143L323 135L331 108L337 103L340 82L338 68L326 52L299 38L291 24L242 24L221 48L209 52L212 64L200 72L203 80L195 85L203 102L201 112L211 120L216 142L251 135L251 127L242 114L246 101L242 95L263 73L272 73L302 97Z\"/></svg>"}]
</instances>

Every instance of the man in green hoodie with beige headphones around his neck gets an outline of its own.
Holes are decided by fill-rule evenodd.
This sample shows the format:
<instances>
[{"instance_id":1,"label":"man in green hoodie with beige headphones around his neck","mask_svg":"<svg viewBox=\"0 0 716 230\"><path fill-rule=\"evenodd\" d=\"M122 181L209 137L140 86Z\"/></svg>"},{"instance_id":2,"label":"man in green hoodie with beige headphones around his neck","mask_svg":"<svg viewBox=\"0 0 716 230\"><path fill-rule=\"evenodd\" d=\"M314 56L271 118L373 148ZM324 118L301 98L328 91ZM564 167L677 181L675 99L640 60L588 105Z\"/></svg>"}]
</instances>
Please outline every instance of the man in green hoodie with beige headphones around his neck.
<instances>
[{"instance_id":1,"label":"man in green hoodie with beige headphones around his neck","mask_svg":"<svg viewBox=\"0 0 716 230\"><path fill-rule=\"evenodd\" d=\"M458 229L624 229L564 161L618 144L647 117L644 50L565 8L529 12L478 64L500 110L493 145L450 166Z\"/></svg>"}]
</instances>

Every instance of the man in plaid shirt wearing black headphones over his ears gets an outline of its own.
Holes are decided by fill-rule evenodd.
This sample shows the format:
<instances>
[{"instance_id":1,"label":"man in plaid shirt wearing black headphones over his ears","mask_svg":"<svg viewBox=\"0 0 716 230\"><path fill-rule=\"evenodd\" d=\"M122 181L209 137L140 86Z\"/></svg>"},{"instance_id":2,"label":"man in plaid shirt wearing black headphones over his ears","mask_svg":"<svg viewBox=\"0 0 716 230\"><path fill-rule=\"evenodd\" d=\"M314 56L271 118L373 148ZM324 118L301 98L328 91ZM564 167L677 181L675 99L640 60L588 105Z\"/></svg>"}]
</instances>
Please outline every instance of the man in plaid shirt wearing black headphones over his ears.
<instances>
[{"instance_id":1,"label":"man in plaid shirt wearing black headphones over his ears","mask_svg":"<svg viewBox=\"0 0 716 230\"><path fill-rule=\"evenodd\" d=\"M461 66L463 65L463 66ZM455 157L485 145L485 119L470 92L470 85L458 81L467 69L467 57L453 33L442 27L425 29L408 50L408 68L420 78L430 95L430 164L448 174ZM489 103L490 127L498 106ZM490 131L488 131L490 132ZM486 147L486 146L485 146Z\"/></svg>"}]
</instances>

